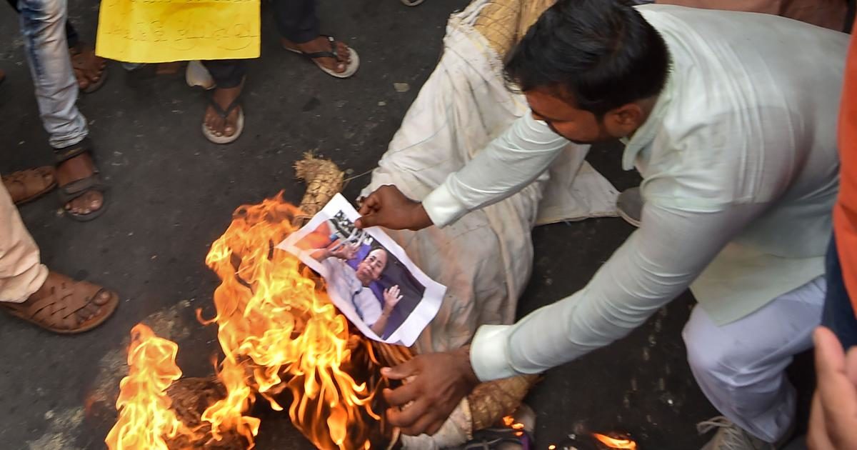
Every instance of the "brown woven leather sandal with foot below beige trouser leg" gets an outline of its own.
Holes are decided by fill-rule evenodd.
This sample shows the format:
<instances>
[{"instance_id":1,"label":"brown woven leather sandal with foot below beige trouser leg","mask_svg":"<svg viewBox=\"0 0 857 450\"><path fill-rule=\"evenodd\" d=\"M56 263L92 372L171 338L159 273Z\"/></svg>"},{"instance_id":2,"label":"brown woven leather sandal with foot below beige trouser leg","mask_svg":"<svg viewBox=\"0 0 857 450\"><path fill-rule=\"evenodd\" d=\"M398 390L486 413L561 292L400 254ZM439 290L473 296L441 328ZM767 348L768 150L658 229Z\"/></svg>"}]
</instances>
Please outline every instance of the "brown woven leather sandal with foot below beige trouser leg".
<instances>
[{"instance_id":1,"label":"brown woven leather sandal with foot below beige trouser leg","mask_svg":"<svg viewBox=\"0 0 857 450\"><path fill-rule=\"evenodd\" d=\"M103 297L102 294L108 294ZM83 333L98 327L119 306L115 292L56 272L24 303L0 302L9 314L60 334ZM89 308L91 312L84 309Z\"/></svg>"}]
</instances>

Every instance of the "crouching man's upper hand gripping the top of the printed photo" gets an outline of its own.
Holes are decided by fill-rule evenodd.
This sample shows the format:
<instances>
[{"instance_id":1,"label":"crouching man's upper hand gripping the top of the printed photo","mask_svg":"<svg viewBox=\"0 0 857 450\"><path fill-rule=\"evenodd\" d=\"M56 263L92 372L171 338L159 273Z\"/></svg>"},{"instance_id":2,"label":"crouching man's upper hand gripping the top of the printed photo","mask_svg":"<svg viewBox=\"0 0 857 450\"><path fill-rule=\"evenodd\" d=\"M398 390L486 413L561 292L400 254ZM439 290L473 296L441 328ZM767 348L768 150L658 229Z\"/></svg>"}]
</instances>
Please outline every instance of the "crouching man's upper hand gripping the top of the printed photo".
<instances>
[{"instance_id":1,"label":"crouching man's upper hand gripping the top of the printed photo","mask_svg":"<svg viewBox=\"0 0 857 450\"><path fill-rule=\"evenodd\" d=\"M428 213L419 201L412 201L399 188L381 186L363 199L357 228L383 226L390 230L422 230L432 225Z\"/></svg>"}]
</instances>

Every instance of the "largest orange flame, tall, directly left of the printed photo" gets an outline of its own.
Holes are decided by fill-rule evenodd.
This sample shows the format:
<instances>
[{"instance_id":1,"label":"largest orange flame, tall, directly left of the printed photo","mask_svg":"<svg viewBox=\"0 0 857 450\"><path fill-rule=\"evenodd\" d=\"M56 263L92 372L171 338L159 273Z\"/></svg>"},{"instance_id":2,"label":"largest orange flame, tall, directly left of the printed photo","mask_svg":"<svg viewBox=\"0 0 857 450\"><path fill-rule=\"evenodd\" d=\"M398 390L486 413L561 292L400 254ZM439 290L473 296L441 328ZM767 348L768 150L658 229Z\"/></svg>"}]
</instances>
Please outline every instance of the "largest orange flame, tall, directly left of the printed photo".
<instances>
[{"instance_id":1,"label":"largest orange flame, tall, directly left of the printed photo","mask_svg":"<svg viewBox=\"0 0 857 450\"><path fill-rule=\"evenodd\" d=\"M207 255L222 280L213 322L225 353L221 379L230 382L228 397L203 418L213 430L238 429L252 442L258 421L242 414L254 391L279 411L274 396L289 388L291 420L316 447L368 447L346 440L352 427L363 428L364 411L380 418L369 406L373 393L342 369L351 358L347 321L295 256L273 249L295 231L288 218L297 213L279 196L241 207Z\"/></svg>"}]
</instances>

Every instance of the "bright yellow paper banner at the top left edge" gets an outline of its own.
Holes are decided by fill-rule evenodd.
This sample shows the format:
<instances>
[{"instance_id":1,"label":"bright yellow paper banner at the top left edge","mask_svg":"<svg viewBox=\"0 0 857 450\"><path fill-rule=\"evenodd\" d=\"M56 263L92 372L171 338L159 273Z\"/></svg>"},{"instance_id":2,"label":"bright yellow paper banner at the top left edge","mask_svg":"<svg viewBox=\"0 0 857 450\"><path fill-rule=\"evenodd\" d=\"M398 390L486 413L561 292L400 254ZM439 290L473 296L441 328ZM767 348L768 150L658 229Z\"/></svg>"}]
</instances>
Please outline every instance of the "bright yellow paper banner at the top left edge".
<instances>
[{"instance_id":1,"label":"bright yellow paper banner at the top left edge","mask_svg":"<svg viewBox=\"0 0 857 450\"><path fill-rule=\"evenodd\" d=\"M260 0L102 0L95 53L129 63L259 57Z\"/></svg>"}]
</instances>

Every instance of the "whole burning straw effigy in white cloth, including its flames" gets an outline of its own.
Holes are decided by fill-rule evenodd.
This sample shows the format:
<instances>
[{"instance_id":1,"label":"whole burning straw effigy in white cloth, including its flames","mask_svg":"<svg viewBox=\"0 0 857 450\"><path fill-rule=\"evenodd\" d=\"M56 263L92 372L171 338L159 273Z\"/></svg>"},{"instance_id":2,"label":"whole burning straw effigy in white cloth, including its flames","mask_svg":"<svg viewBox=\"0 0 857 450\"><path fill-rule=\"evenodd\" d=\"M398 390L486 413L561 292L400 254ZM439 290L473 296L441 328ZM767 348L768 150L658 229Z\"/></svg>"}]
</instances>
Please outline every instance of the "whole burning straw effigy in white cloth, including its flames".
<instances>
[{"instance_id":1,"label":"whole burning straw effigy in white cloth, including its flames","mask_svg":"<svg viewBox=\"0 0 857 450\"><path fill-rule=\"evenodd\" d=\"M394 184L410 198L424 198L527 113L523 97L506 89L502 58L551 3L476 0L452 16L447 51L364 194ZM239 207L207 256L221 279L214 293L217 315L207 320L218 327L223 352L216 377L181 378L175 345L135 328L108 447L250 448L259 432L259 419L250 415L257 401L274 411L288 409L297 429L324 449L454 447L480 429L510 427L503 417L518 409L535 375L483 383L437 434L399 436L385 423L380 393L387 381L380 369L404 362L411 351L466 345L482 324L514 321L530 277L532 227L614 215L615 189L584 156L569 148L549 179L540 177L518 195L442 230L388 233L425 273L448 286L440 311L411 348L354 333L321 279L296 256L275 251L345 181L330 161L298 162L297 175L307 183L301 204L276 197ZM480 251L461 251L474 248ZM512 435L524 435L511 423Z\"/></svg>"}]
</instances>

